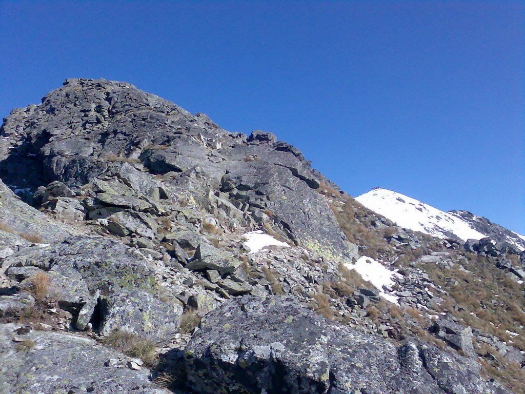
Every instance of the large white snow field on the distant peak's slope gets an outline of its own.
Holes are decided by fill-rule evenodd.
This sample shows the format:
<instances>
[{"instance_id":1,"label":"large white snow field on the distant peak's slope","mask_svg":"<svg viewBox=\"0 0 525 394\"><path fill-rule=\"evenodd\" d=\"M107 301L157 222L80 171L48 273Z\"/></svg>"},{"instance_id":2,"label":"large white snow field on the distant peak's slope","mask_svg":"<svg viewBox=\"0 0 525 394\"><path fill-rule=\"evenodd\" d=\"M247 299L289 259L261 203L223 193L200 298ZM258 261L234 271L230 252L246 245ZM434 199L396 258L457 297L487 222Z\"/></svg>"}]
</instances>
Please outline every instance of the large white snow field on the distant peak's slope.
<instances>
[{"instance_id":1,"label":"large white snow field on the distant peak's slope","mask_svg":"<svg viewBox=\"0 0 525 394\"><path fill-rule=\"evenodd\" d=\"M452 233L464 241L479 240L486 236L472 229L467 222L455 215L392 190L374 189L361 194L355 200L398 226L413 231L440 238L445 238L447 233Z\"/></svg>"}]
</instances>

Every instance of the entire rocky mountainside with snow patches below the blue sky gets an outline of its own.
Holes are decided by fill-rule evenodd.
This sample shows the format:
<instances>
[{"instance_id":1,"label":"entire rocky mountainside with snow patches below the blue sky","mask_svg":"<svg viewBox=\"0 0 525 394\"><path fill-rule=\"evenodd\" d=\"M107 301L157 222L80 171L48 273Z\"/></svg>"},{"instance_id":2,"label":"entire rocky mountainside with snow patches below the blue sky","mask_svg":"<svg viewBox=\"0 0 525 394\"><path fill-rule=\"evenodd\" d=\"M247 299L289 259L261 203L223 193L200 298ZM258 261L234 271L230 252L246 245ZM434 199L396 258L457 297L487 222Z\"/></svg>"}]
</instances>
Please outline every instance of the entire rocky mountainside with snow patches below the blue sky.
<instances>
[{"instance_id":1,"label":"entire rocky mountainside with snow patches below the blue sky","mask_svg":"<svg viewBox=\"0 0 525 394\"><path fill-rule=\"evenodd\" d=\"M14 109L0 179L2 393L525 393L525 244L488 219L402 227L104 79Z\"/></svg>"}]
</instances>

